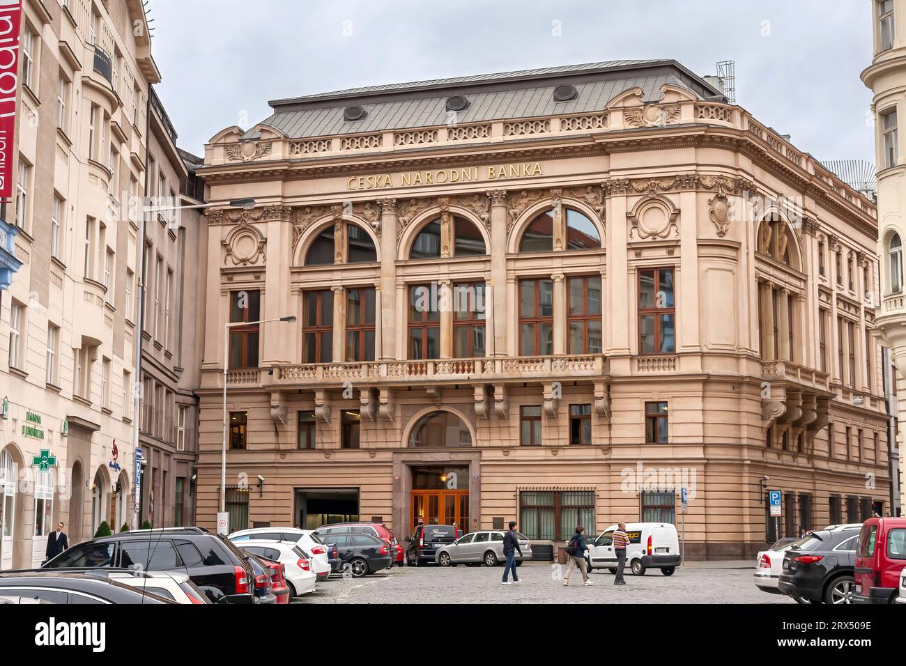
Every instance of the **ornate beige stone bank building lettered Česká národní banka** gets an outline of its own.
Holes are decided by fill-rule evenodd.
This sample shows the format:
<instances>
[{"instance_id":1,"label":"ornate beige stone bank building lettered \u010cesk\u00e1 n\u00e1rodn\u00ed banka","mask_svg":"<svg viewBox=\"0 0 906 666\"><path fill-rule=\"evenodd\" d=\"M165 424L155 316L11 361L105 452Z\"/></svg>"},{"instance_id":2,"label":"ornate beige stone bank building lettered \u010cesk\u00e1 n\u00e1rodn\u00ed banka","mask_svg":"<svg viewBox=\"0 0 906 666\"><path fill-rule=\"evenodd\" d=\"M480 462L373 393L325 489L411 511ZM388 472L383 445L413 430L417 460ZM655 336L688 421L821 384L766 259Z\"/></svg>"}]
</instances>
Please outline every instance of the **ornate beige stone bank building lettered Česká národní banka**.
<instances>
[{"instance_id":1,"label":"ornate beige stone bank building lettered \u010cesk\u00e1 n\u00e1rodn\u00ed banka","mask_svg":"<svg viewBox=\"0 0 906 666\"><path fill-rule=\"evenodd\" d=\"M874 206L711 83L625 61L271 105L200 169L199 525L225 428L233 529L684 519L690 557L741 557L886 511Z\"/></svg>"}]
</instances>

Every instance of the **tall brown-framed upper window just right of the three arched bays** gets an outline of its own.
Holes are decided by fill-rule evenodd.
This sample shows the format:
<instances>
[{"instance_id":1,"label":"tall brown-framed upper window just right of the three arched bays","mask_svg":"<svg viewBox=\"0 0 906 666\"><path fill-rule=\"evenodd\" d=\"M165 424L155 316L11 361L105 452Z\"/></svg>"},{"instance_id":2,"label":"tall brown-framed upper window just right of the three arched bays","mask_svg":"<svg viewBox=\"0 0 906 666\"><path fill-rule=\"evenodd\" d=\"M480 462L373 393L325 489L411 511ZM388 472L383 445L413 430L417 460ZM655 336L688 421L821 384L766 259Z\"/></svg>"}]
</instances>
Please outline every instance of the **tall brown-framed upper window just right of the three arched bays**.
<instances>
[{"instance_id":1,"label":"tall brown-framed upper window just right of the three arched bays","mask_svg":"<svg viewBox=\"0 0 906 666\"><path fill-rule=\"evenodd\" d=\"M676 353L672 268L639 271L639 353Z\"/></svg>"}]
</instances>

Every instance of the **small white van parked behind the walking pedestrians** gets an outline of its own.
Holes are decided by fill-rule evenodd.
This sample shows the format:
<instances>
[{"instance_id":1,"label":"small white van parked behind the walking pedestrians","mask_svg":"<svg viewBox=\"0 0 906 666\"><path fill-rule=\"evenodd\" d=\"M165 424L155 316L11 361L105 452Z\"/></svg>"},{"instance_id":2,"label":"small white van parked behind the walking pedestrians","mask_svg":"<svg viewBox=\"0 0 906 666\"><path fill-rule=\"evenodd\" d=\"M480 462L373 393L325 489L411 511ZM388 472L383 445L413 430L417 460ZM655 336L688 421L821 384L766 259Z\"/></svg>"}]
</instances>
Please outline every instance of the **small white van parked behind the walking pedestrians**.
<instances>
[{"instance_id":1,"label":"small white van parked behind the walking pedestrians","mask_svg":"<svg viewBox=\"0 0 906 666\"><path fill-rule=\"evenodd\" d=\"M585 563L591 569L617 570L617 555L613 552L613 532L617 526L605 529L594 543L588 544ZM664 575L673 575L680 564L677 528L670 523L627 523L626 568L635 575L647 569L660 569Z\"/></svg>"}]
</instances>

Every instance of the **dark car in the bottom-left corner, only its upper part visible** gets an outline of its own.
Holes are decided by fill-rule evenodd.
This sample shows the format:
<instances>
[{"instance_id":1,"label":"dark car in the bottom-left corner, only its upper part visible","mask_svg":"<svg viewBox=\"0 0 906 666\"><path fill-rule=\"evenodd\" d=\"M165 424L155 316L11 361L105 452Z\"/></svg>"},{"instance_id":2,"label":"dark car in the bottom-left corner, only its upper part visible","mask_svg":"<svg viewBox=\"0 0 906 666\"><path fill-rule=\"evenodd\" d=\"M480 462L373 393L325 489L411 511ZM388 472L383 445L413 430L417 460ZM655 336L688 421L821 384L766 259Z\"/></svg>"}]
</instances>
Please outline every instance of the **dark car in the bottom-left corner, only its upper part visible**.
<instances>
[{"instance_id":1,"label":"dark car in the bottom-left corner, only its upper part visible","mask_svg":"<svg viewBox=\"0 0 906 666\"><path fill-rule=\"evenodd\" d=\"M97 575L47 569L0 572L0 595L47 603L173 603Z\"/></svg>"}]
</instances>

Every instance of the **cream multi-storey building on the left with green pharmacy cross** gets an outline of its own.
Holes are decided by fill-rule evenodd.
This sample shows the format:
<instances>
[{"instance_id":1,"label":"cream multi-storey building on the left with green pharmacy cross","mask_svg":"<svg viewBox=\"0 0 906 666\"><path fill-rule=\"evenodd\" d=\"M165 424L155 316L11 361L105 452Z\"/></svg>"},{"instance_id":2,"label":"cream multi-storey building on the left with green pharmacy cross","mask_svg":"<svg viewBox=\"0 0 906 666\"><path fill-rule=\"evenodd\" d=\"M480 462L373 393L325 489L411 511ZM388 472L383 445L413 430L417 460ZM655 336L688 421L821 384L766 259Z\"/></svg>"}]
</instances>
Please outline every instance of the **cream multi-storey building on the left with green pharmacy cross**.
<instances>
[{"instance_id":1,"label":"cream multi-storey building on the left with green pharmacy cross","mask_svg":"<svg viewBox=\"0 0 906 666\"><path fill-rule=\"evenodd\" d=\"M137 0L26 0L0 292L0 568L132 516L135 289L149 86Z\"/></svg>"}]
</instances>

